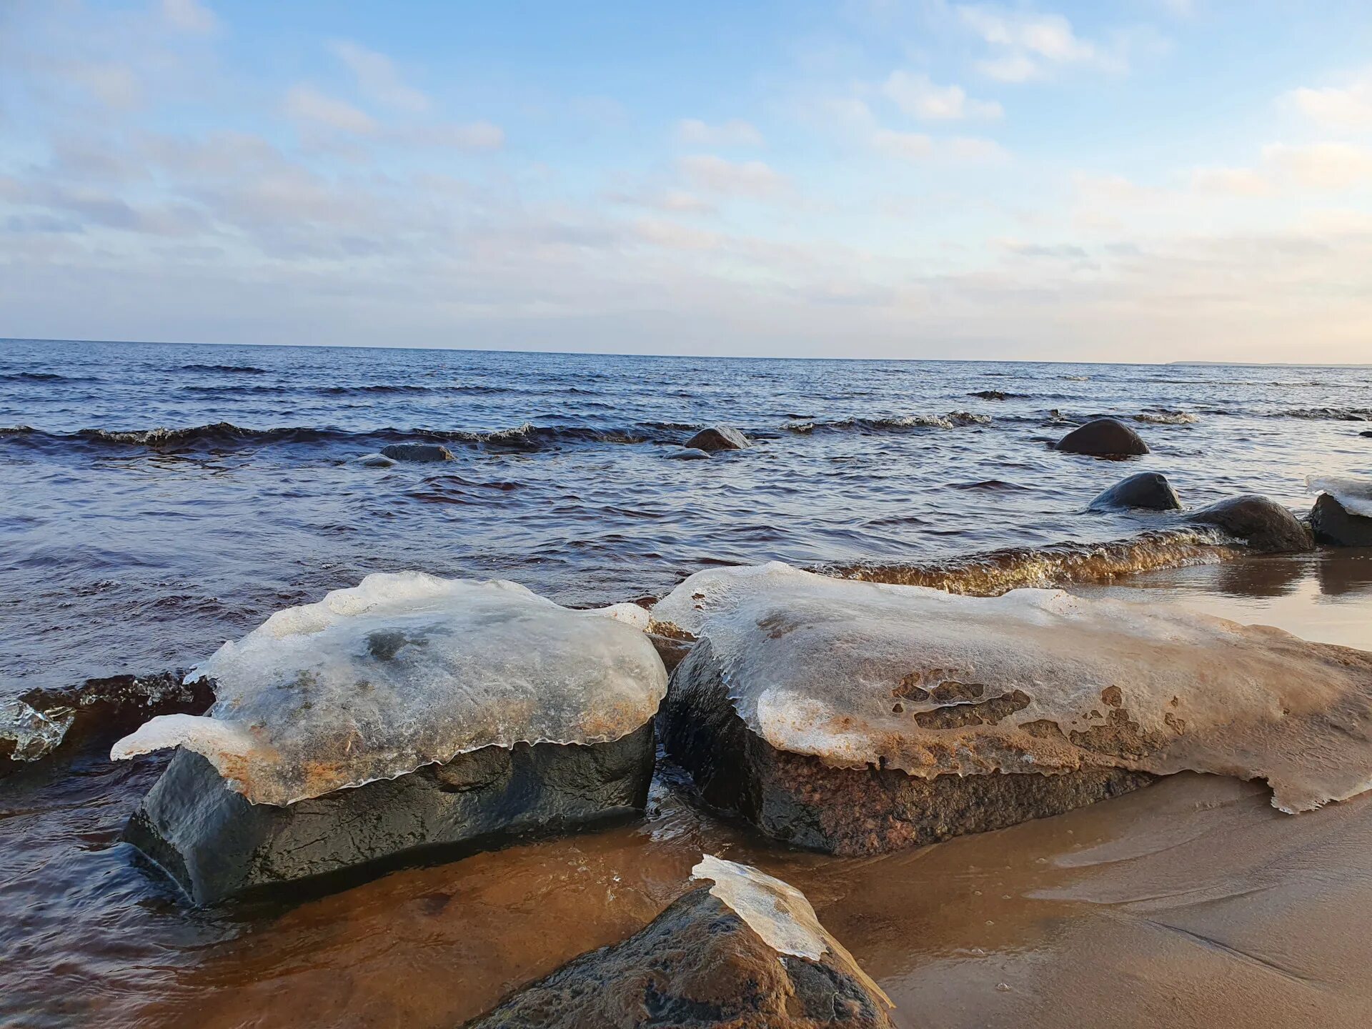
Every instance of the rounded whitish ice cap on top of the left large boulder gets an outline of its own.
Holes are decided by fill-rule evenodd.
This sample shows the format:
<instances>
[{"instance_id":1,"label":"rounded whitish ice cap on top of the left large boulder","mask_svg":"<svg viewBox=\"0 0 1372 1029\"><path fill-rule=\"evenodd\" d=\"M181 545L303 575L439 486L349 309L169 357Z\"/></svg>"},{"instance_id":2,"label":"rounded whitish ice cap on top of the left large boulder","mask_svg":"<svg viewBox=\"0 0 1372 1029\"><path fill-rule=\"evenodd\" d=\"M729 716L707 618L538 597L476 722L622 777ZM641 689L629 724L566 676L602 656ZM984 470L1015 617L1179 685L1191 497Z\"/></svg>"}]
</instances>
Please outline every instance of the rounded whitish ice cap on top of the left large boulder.
<instances>
[{"instance_id":1,"label":"rounded whitish ice cap on top of the left large boulder","mask_svg":"<svg viewBox=\"0 0 1372 1029\"><path fill-rule=\"evenodd\" d=\"M111 757L185 746L284 805L490 745L619 740L667 691L646 622L513 582L369 575L226 642L187 676L214 681L210 712L154 718Z\"/></svg>"}]
</instances>

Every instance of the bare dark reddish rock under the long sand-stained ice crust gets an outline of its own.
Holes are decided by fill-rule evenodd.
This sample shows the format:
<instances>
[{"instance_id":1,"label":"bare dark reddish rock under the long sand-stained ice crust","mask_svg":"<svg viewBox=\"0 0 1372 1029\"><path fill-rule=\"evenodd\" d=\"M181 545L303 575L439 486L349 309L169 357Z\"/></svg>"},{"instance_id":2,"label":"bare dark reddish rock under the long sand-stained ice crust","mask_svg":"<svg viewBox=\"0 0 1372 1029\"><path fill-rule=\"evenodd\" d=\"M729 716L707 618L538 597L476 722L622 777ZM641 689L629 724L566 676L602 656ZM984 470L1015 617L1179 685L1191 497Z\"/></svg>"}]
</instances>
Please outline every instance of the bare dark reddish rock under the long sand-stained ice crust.
<instances>
[{"instance_id":1,"label":"bare dark reddish rock under the long sand-stained ice crust","mask_svg":"<svg viewBox=\"0 0 1372 1029\"><path fill-rule=\"evenodd\" d=\"M701 797L797 847L870 855L1059 815L1152 782L1144 772L1093 768L1062 775L940 775L833 768L778 750L734 711L709 641L672 672L659 713L668 756Z\"/></svg>"}]
</instances>

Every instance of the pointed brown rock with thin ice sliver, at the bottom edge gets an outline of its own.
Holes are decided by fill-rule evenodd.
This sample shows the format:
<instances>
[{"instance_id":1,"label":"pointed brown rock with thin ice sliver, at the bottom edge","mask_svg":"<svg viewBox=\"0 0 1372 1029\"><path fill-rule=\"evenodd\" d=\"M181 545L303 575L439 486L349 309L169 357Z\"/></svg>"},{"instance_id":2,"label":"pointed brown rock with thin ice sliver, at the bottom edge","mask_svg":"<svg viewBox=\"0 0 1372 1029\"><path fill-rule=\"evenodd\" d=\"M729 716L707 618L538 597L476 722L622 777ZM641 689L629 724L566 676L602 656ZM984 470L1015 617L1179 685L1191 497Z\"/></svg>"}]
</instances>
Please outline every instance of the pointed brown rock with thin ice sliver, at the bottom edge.
<instances>
[{"instance_id":1,"label":"pointed brown rock with thin ice sliver, at the bottom edge","mask_svg":"<svg viewBox=\"0 0 1372 1029\"><path fill-rule=\"evenodd\" d=\"M645 929L525 986L469 1029L886 1029L890 1000L804 895L705 856Z\"/></svg>"}]
</instances>

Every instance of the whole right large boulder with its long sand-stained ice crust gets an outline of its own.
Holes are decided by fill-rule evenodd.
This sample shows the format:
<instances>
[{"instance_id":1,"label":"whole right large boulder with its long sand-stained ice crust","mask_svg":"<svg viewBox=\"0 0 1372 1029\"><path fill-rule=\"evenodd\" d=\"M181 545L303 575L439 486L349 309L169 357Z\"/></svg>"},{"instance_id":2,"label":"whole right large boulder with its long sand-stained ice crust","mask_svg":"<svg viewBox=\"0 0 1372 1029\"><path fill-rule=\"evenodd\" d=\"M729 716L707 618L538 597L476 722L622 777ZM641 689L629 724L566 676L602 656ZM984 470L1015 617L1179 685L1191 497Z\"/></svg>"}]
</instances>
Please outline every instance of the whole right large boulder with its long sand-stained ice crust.
<instances>
[{"instance_id":1,"label":"whole right large boulder with its long sand-stained ice crust","mask_svg":"<svg viewBox=\"0 0 1372 1029\"><path fill-rule=\"evenodd\" d=\"M1158 604L962 597L783 564L653 609L698 642L660 733L704 797L838 853L1056 814L1195 770L1283 811L1372 785L1372 654Z\"/></svg>"}]
</instances>

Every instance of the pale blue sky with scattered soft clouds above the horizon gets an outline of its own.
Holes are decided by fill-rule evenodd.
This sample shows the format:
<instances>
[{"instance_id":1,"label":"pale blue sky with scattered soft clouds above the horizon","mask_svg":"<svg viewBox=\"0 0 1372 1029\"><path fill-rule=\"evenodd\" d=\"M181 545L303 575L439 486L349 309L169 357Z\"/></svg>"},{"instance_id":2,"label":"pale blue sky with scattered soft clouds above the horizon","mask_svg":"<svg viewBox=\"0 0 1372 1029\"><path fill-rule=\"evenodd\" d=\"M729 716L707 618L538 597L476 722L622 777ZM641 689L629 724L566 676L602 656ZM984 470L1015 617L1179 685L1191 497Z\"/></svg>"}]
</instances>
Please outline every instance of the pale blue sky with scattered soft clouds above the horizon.
<instances>
[{"instance_id":1,"label":"pale blue sky with scattered soft clouds above the horizon","mask_svg":"<svg viewBox=\"0 0 1372 1029\"><path fill-rule=\"evenodd\" d=\"M0 0L0 336L1372 362L1372 4Z\"/></svg>"}]
</instances>

